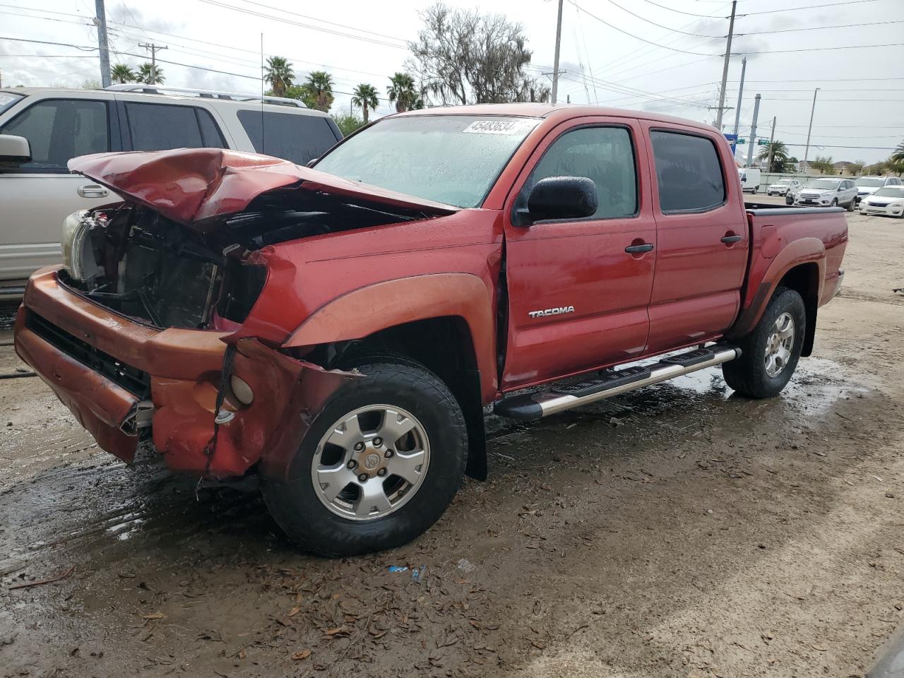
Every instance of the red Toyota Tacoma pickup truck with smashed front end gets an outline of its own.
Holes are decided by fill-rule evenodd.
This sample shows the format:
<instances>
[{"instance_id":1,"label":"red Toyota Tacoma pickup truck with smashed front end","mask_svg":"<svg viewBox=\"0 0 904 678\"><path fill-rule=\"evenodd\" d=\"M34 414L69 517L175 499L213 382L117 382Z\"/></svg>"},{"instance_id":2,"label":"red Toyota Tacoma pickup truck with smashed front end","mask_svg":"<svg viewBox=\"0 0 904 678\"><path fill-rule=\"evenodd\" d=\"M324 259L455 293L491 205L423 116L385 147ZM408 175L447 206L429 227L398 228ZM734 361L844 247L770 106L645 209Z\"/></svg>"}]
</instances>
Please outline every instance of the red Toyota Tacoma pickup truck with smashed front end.
<instances>
[{"instance_id":1,"label":"red Toyota Tacoma pickup truck with smashed front end","mask_svg":"<svg viewBox=\"0 0 904 678\"><path fill-rule=\"evenodd\" d=\"M299 167L90 155L15 346L100 447L259 479L324 554L398 546L486 473L484 413L539 419L721 364L753 398L813 350L839 209L748 205L699 123L541 104L381 118Z\"/></svg>"}]
</instances>

